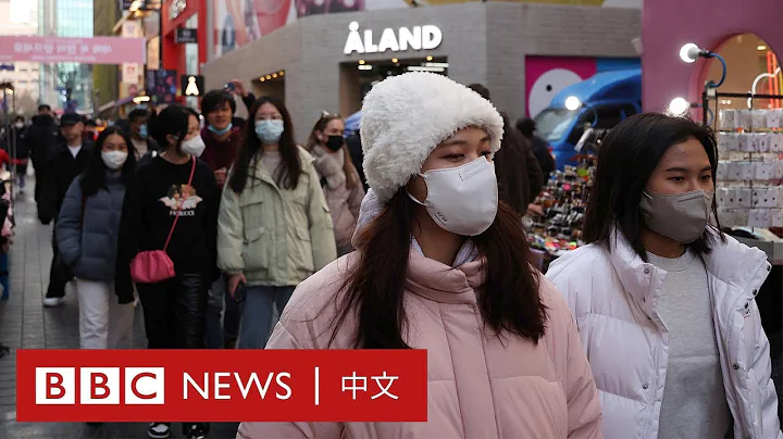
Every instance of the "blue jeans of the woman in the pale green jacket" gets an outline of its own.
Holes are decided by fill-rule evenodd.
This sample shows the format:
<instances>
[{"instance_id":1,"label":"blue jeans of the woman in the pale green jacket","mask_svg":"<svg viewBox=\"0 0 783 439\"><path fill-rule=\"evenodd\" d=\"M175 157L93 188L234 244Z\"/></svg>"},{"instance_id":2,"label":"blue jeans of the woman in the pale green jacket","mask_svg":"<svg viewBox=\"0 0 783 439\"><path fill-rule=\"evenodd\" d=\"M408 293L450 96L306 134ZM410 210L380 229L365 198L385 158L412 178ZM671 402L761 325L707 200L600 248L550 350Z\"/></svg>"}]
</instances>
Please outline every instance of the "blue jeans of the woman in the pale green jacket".
<instances>
[{"instance_id":1,"label":"blue jeans of the woman in the pale green jacket","mask_svg":"<svg viewBox=\"0 0 783 439\"><path fill-rule=\"evenodd\" d=\"M277 306L278 315L283 314L295 288L248 287L239 327L239 349L264 349L272 330L272 306Z\"/></svg>"}]
</instances>

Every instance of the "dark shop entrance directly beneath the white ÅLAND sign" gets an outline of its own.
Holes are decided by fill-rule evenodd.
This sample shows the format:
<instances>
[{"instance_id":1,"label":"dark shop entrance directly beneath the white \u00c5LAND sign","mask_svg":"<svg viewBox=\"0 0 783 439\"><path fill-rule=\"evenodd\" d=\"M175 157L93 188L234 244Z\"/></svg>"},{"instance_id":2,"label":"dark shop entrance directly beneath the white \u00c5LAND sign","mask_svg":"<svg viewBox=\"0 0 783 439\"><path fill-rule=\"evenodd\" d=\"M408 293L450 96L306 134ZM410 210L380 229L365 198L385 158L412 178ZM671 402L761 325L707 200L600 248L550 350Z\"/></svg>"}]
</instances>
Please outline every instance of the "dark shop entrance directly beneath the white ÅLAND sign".
<instances>
[{"instance_id":1,"label":"dark shop entrance directly beneath the white \u00c5LAND sign","mask_svg":"<svg viewBox=\"0 0 783 439\"><path fill-rule=\"evenodd\" d=\"M340 64L340 114L349 115L361 110L364 95L389 76L408 72L432 72L448 76L446 57L408 58L384 61L364 61Z\"/></svg>"}]
</instances>

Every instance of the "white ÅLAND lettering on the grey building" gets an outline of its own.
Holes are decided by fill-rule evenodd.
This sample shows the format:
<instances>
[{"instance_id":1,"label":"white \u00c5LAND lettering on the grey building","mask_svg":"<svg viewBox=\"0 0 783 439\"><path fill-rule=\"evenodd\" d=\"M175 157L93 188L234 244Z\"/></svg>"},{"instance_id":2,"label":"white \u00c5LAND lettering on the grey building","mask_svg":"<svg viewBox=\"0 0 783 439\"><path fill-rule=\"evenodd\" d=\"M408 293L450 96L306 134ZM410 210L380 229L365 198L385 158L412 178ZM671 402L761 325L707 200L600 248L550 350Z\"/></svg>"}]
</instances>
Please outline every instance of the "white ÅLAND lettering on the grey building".
<instances>
[{"instance_id":1,"label":"white \u00c5LAND lettering on the grey building","mask_svg":"<svg viewBox=\"0 0 783 439\"><path fill-rule=\"evenodd\" d=\"M439 27L434 25L413 26L413 28L400 27L398 29L388 27L381 33L377 42L373 40L372 29L365 29L363 35L360 34L359 23L357 22L351 22L348 25L348 39L343 50L345 54L432 50L443 42L443 33Z\"/></svg>"}]
</instances>

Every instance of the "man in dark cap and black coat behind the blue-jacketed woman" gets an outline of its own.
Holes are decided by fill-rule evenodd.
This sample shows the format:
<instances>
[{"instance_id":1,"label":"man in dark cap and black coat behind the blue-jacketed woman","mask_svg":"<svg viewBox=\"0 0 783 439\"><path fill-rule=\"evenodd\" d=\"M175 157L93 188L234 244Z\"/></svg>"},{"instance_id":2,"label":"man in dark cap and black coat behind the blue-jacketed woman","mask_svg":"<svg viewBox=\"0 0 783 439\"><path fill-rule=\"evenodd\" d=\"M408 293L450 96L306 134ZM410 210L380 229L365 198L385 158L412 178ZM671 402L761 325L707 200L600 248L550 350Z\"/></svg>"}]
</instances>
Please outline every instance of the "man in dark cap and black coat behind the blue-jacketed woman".
<instances>
[{"instance_id":1,"label":"man in dark cap and black coat behind the blue-jacketed woman","mask_svg":"<svg viewBox=\"0 0 783 439\"><path fill-rule=\"evenodd\" d=\"M38 202L38 218L44 225L58 217L71 183L87 167L92 142L84 139L83 131L82 116L75 113L63 114L60 120L60 133L64 141L51 151L48 161L49 172L45 175ZM65 296L65 285L73 279L71 269L59 256L57 238L53 235L52 252L49 288L44 299L45 306L59 305Z\"/></svg>"}]
</instances>

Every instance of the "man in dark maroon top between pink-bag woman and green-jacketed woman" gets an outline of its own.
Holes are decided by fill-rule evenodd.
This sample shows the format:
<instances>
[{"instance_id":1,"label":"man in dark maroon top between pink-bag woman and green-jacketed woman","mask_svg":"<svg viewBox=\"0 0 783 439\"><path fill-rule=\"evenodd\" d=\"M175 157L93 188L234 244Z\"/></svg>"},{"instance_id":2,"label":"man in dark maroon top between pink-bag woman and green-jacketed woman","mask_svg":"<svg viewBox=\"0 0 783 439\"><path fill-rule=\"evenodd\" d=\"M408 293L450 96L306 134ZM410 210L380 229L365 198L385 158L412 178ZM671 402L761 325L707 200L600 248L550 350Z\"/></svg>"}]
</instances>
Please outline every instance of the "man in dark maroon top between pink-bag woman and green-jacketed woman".
<instances>
[{"instance_id":1,"label":"man in dark maroon top between pink-bag woman and green-jacketed woman","mask_svg":"<svg viewBox=\"0 0 783 439\"><path fill-rule=\"evenodd\" d=\"M232 83L236 87L236 83ZM235 88L236 90L236 88ZM241 91L237 91L244 93ZM251 105L252 106L252 105ZM201 100L201 112L207 125L201 129L203 154L189 151L212 167L217 186L223 189L228 168L243 143L241 128L234 124L236 101L227 90L211 90ZM227 279L221 276L210 288L209 308L207 309L207 348L233 348L239 331L239 308L234 299L226 294ZM225 310L223 325L221 315Z\"/></svg>"}]
</instances>

